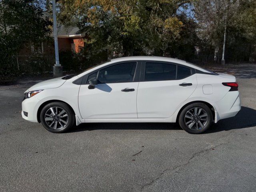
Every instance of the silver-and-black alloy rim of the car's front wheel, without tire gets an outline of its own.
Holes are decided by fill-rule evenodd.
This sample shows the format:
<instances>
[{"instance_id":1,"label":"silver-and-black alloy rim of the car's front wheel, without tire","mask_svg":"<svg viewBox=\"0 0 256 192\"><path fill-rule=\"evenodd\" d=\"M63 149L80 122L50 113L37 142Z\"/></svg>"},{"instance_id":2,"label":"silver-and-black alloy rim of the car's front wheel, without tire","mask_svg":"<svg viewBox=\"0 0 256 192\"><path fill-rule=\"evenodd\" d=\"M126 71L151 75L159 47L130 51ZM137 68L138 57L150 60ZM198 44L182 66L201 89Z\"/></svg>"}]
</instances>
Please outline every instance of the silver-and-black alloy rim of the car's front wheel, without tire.
<instances>
[{"instance_id":1,"label":"silver-and-black alloy rim of the car's front wheel, without tire","mask_svg":"<svg viewBox=\"0 0 256 192\"><path fill-rule=\"evenodd\" d=\"M46 111L44 120L51 129L60 130L68 124L68 113L60 107L51 107Z\"/></svg>"}]
</instances>

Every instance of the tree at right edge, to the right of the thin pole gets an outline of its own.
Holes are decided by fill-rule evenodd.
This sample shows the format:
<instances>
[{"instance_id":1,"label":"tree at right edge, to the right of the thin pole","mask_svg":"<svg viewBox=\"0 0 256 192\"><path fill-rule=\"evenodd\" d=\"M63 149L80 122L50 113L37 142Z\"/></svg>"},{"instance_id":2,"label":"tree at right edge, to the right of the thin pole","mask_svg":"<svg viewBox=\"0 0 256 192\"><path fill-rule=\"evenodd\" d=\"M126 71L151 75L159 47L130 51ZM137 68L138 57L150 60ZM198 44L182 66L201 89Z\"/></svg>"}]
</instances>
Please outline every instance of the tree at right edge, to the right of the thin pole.
<instances>
[{"instance_id":1,"label":"tree at right edge, to the right of the thin pole","mask_svg":"<svg viewBox=\"0 0 256 192\"><path fill-rule=\"evenodd\" d=\"M226 57L234 62L256 61L256 1L240 0L227 25Z\"/></svg>"}]
</instances>

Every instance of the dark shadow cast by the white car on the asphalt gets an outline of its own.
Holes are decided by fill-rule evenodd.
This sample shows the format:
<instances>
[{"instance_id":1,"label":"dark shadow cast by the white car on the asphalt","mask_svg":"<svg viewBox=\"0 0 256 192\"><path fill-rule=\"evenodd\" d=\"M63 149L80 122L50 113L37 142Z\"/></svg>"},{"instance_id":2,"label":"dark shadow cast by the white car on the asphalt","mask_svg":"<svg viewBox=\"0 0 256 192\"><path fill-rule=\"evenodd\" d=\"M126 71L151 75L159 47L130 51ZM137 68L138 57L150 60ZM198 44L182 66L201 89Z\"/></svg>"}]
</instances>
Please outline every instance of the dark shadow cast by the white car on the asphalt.
<instances>
[{"instance_id":1,"label":"dark shadow cast by the white car on the asphalt","mask_svg":"<svg viewBox=\"0 0 256 192\"><path fill-rule=\"evenodd\" d=\"M232 118L220 120L212 124L204 134L241 129L256 126L256 110L242 107L240 112ZM83 123L68 132L92 130L181 130L176 123Z\"/></svg>"}]
</instances>

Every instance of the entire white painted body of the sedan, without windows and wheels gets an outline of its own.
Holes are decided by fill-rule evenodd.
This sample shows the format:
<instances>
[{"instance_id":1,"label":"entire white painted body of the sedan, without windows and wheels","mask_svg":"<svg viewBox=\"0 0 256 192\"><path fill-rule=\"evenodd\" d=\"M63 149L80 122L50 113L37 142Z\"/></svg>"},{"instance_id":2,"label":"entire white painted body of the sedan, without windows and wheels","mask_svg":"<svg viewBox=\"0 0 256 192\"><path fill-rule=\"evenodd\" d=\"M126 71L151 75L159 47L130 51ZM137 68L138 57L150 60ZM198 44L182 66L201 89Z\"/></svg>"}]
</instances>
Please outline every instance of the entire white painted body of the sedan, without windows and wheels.
<instances>
[{"instance_id":1,"label":"entire white painted body of the sedan, without windows and wheels","mask_svg":"<svg viewBox=\"0 0 256 192\"><path fill-rule=\"evenodd\" d=\"M73 82L86 74L116 62L132 60L165 61L200 70L181 80L128 82L98 84L95 89ZM179 86L182 83L192 86ZM76 116L76 124L84 122L176 122L180 110L190 102L206 102L214 111L214 122L235 116L241 108L238 91L222 82L236 82L228 74L211 75L207 70L182 60L163 57L126 57L111 60L96 66L71 79L55 78L38 83L28 90L43 90L22 102L22 117L38 122L38 110L46 102L66 102ZM134 88L133 92L121 92L124 88ZM23 114L28 112L28 117Z\"/></svg>"}]
</instances>

